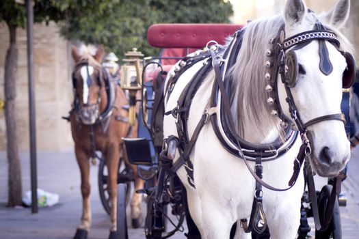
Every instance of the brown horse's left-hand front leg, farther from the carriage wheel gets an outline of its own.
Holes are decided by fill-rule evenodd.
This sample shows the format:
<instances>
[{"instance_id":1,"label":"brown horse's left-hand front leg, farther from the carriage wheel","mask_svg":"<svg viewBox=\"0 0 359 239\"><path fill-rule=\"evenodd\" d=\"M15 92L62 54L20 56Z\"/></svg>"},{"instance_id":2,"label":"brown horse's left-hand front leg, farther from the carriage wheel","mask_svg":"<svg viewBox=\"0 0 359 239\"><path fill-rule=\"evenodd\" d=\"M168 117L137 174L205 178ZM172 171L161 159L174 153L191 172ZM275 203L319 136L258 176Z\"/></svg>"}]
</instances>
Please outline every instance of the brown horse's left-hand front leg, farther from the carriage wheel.
<instances>
[{"instance_id":1,"label":"brown horse's left-hand front leg, farther from the carriage wheel","mask_svg":"<svg viewBox=\"0 0 359 239\"><path fill-rule=\"evenodd\" d=\"M90 230L91 206L90 206L90 155L84 150L75 147L77 163L81 171L81 193L82 193L82 216L78 229Z\"/></svg>"}]
</instances>

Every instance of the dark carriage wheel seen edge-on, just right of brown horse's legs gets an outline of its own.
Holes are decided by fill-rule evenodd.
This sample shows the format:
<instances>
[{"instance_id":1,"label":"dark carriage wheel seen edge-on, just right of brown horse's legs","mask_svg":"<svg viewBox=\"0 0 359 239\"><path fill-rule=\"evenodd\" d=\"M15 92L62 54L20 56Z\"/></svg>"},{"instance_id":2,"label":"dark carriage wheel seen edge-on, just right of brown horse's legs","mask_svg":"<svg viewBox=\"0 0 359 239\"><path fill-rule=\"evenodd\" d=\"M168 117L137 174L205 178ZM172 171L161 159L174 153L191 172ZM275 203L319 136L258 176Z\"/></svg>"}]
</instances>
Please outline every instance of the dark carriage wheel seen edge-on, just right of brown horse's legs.
<instances>
[{"instance_id":1,"label":"dark carriage wheel seen edge-on, just right of brown horse's legs","mask_svg":"<svg viewBox=\"0 0 359 239\"><path fill-rule=\"evenodd\" d=\"M127 217L126 217L126 206L127 206L127 184L118 184L117 194L117 238L118 239L129 239L127 232Z\"/></svg>"}]
</instances>

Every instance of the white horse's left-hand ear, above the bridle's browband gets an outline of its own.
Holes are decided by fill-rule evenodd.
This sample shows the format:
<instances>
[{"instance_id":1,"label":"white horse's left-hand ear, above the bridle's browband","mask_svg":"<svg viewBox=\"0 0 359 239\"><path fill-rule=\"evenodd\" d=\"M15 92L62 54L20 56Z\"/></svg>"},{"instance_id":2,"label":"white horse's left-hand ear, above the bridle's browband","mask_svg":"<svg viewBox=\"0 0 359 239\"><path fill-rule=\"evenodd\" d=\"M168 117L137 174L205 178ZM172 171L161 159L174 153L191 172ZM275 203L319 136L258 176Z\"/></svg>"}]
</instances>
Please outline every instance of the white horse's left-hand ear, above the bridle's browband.
<instances>
[{"instance_id":1,"label":"white horse's left-hand ear, above the bridle's browband","mask_svg":"<svg viewBox=\"0 0 359 239\"><path fill-rule=\"evenodd\" d=\"M302 0L288 0L284 10L285 21L289 25L300 23L306 14L306 5Z\"/></svg>"}]
</instances>

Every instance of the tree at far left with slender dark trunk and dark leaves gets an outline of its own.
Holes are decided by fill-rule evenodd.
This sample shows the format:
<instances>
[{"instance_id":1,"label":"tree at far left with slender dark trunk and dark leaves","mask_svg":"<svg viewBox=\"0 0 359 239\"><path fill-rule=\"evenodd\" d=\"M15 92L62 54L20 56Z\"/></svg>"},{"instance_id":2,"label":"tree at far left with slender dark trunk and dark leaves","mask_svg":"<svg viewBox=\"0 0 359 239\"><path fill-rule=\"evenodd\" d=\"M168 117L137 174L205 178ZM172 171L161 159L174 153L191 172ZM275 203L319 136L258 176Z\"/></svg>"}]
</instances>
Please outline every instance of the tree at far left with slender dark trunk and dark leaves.
<instances>
[{"instance_id":1,"label":"tree at far left with slender dark trunk and dark leaves","mask_svg":"<svg viewBox=\"0 0 359 239\"><path fill-rule=\"evenodd\" d=\"M92 12L102 12L113 3L119 0L36 0L34 5L34 20L36 22L64 20L70 13L87 14ZM5 92L5 124L7 137L8 153L8 206L21 205L22 184L21 184L21 164L18 154L18 137L16 126L15 98L16 98L16 78L18 50L16 47L16 29L25 27L26 10L25 6L16 3L14 0L0 1L0 21L5 21L9 29L10 46L5 57L4 92Z\"/></svg>"}]
</instances>

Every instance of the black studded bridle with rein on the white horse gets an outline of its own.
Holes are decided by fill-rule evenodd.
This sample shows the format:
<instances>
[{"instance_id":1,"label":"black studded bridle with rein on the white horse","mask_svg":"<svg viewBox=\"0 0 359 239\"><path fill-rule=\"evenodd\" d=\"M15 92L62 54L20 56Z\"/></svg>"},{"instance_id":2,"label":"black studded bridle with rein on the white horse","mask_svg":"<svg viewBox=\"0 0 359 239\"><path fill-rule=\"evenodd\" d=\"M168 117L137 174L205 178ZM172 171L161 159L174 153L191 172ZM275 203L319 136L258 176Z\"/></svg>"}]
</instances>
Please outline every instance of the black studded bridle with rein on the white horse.
<instances>
[{"instance_id":1,"label":"black studded bridle with rein on the white horse","mask_svg":"<svg viewBox=\"0 0 359 239\"><path fill-rule=\"evenodd\" d=\"M235 41L237 34L239 34L239 31L237 31L237 33L235 33L235 38L233 38L232 42ZM335 33L333 33L332 31L322 30L322 29L321 30L314 29L313 31L306 31L304 33L299 33L291 38L285 39L284 25L282 25L280 27L278 37L276 39L273 39L270 41L272 48L267 50L267 53L266 53L267 57L269 57L269 60L265 62L265 68L267 69L267 73L265 74L265 81L267 81L267 83L268 83L268 85L266 86L266 91L269 96L267 98L267 104L269 104L271 107L273 107L271 114L280 117L280 119L282 120L280 125L283 128L287 128L289 126L289 124L287 124L286 120L295 122L295 125L297 126L297 129L300 131L300 134L302 137L302 146L300 147L300 152L298 153L298 156L295 158L295 160L293 162L294 170L293 170L293 175L291 177L291 180L289 181L289 187L288 188L276 188L276 187L273 187L273 186L263 182L263 180L261 180L261 177L256 175L256 173L254 173L254 171L251 169L250 165L248 164L248 162L247 162L248 159L246 159L246 156L243 153L243 150L241 149L241 145L239 143L240 142L239 136L237 135L237 137L235 137L236 138L235 140L237 141L237 145L239 147L239 150L238 150L239 155L241 156L241 158L244 159L244 162L247 165L250 173L253 175L253 177L256 179L256 181L261 184L261 186L265 186L266 188L268 188L269 190L272 190L272 191L287 191L287 190L289 190L289 188L294 186L295 181L297 180L297 177L300 173L300 168L302 167L302 163L304 162L304 158L306 158L306 156L309 156L312 153L310 138L307 135L308 126L317 124L319 122L327 121L327 120L340 120L340 121L344 122L342 114L335 113L335 114L331 114L331 115L322 115L320 117L316 117L315 119L311 119L306 123L303 123L302 119L300 117L300 112L297 111L297 107L295 106L295 102L293 100L293 95L291 94L291 87L293 87L293 84L291 85L289 83L289 81L286 80L286 77L288 75L297 77L297 73L290 74L292 69L289 68L290 66L287 65L289 62L291 62L291 66L295 66L295 69L296 69L297 62L293 61L293 60L289 60L289 58L287 58L287 55L292 56L291 59L293 59L293 55L294 55L293 52L295 51L295 49L304 47L304 46L306 46L306 44L308 44L308 42L311 42L313 40L319 40L319 41L323 40L323 41L331 42L334 44L334 46L336 46L336 48L339 48L339 46L340 46L340 43L338 42L338 37L336 36ZM300 46L300 47L297 47L297 46ZM295 47L297 47L297 48L295 48ZM323 44L323 47L325 47L325 44ZM292 50L294 50L294 51L289 51L289 53L287 53L287 50L289 48L292 48ZM328 50L327 50L327 52L328 52ZM345 84L343 84L343 87L350 87L354 81L354 74L355 74L355 70L353 68L353 66L355 66L354 58L349 53L343 53L343 52L341 52L341 53L345 56L345 59L347 59L347 65L348 65L348 68L346 70L347 72L345 72L345 74L344 74L344 76L347 77L347 79L343 79L343 83L345 83ZM226 113L226 115L228 116L228 119L230 119L230 120L228 120L230 128L235 128L235 125L232 122L232 113L230 111L229 99L228 99L228 96L226 94L226 90L224 87L225 76L224 76L224 74L222 74L224 69L226 69L226 67L227 67L226 66L227 61L226 61L226 59L223 59L222 57L216 56L217 53L215 51L212 51L211 54L212 54L212 61L213 61L213 66L214 66L214 70L215 70L215 75L216 75L215 79L216 79L216 82L219 87L219 92L222 96L222 101L223 101L222 104L224 107L224 113ZM227 55L227 58L230 59L231 53L230 52L224 53L224 55ZM326 56L323 56L323 57L326 57ZM274 60L270 61L270 59L274 59ZM287 93L286 101L289 104L289 111L291 113L291 119L288 119L288 117L283 113L282 109L280 108L280 104L279 104L279 100L278 100L279 99L278 91L276 90L276 85L278 82L278 79L277 79L278 74L280 74L280 76L282 78L282 83L284 83L284 88ZM296 81L297 79L292 79L292 80ZM208 111L209 111L209 109L207 109L207 112ZM260 154L258 154L258 156L261 157ZM258 163L256 163L256 165L258 165Z\"/></svg>"}]
</instances>

